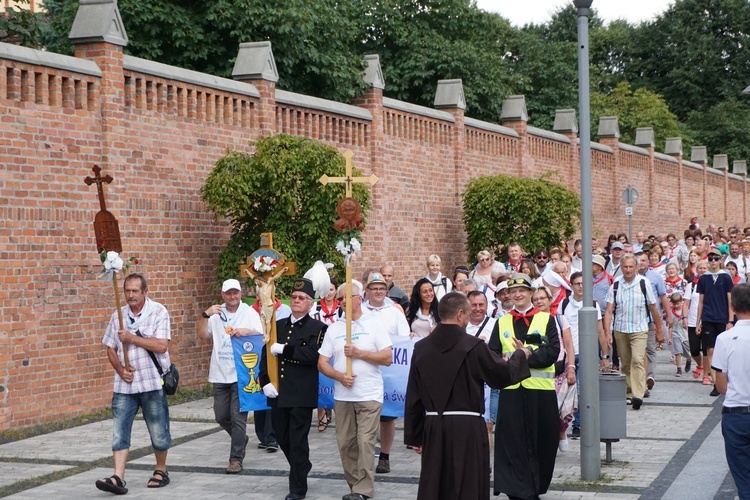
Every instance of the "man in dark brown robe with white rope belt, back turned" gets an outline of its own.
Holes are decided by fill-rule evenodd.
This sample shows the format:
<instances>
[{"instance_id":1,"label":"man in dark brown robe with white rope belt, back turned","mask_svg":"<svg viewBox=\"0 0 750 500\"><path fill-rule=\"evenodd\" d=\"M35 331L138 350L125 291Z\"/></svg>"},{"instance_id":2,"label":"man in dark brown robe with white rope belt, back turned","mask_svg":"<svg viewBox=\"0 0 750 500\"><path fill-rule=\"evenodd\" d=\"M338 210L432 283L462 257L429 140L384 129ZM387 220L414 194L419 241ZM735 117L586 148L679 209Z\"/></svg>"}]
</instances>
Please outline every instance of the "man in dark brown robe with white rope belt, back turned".
<instances>
[{"instance_id":1,"label":"man in dark brown robe with white rope belt, back turned","mask_svg":"<svg viewBox=\"0 0 750 500\"><path fill-rule=\"evenodd\" d=\"M441 322L414 346L406 389L404 442L422 455L417 498L489 499L484 382L502 388L527 378L531 351L506 361L467 335L471 306L461 293L446 294L438 313Z\"/></svg>"}]
</instances>

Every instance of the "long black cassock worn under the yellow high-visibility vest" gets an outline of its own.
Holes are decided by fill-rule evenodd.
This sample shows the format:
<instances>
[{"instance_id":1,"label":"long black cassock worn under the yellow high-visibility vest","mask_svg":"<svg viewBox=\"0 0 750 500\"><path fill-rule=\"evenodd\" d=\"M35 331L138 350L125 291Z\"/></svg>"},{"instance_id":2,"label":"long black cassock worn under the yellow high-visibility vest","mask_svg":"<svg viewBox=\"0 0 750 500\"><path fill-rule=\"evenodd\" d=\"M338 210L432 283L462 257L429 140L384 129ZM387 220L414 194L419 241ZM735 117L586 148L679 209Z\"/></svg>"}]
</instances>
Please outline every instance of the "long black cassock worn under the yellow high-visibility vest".
<instances>
[{"instance_id":1,"label":"long black cassock worn under the yellow high-visibility vest","mask_svg":"<svg viewBox=\"0 0 750 500\"><path fill-rule=\"evenodd\" d=\"M500 321L490 336L490 349L502 352ZM522 319L513 322L513 334L522 342L529 327ZM557 360L560 341L555 320L550 316L545 331L547 342L529 358L529 367L544 368ZM494 493L510 498L536 499L547 492L552 481L559 444L560 416L554 390L519 387L503 389L495 422Z\"/></svg>"}]
</instances>

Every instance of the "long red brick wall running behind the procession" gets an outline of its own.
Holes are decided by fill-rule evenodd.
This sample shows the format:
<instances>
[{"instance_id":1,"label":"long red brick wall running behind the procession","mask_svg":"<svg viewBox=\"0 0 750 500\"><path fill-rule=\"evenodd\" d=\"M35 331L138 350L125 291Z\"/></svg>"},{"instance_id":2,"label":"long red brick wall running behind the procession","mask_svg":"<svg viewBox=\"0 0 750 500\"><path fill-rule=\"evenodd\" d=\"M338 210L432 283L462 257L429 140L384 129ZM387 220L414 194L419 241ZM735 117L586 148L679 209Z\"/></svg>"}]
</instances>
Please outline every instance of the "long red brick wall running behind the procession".
<instances>
[{"instance_id":1,"label":"long red brick wall running behind the procession","mask_svg":"<svg viewBox=\"0 0 750 500\"><path fill-rule=\"evenodd\" d=\"M467 263L460 194L469 179L556 171L574 189L579 181L575 138L530 135L524 122L506 123L520 138L488 132L465 126L460 109L447 110L450 122L384 107L377 89L356 102L373 114L369 122L277 104L271 82L252 82L255 99L126 71L121 49L108 44L78 46L77 56L96 61L102 77L0 59L0 429L109 404L112 369L101 338L113 293L98 278L91 226L99 206L83 183L94 164L115 179L105 190L124 256L140 259L151 297L170 311L171 353L186 387L206 380L210 345L196 340L194 326L217 298L216 256L229 235L206 212L200 189L227 148L248 150L286 132L352 149L355 166L380 179L355 276L390 262L407 291L431 253L446 274ZM627 229L628 185L641 194L634 228L677 231L694 215L745 222L735 201L724 214L724 176L608 144L613 154L592 152L595 234ZM743 189L729 180L731 200L743 200Z\"/></svg>"}]
</instances>

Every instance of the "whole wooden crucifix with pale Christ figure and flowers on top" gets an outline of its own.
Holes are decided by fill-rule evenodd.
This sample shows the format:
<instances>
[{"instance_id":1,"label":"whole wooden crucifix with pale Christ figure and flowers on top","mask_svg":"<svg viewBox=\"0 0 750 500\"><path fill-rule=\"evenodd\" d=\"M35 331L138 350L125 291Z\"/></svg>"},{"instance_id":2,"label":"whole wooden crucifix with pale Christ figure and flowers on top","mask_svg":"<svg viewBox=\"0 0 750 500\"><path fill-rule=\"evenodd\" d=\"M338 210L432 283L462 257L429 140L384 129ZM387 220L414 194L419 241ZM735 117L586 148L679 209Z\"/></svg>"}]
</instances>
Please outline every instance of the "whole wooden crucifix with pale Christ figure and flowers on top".
<instances>
[{"instance_id":1,"label":"whole wooden crucifix with pale Christ figure and flowers on top","mask_svg":"<svg viewBox=\"0 0 750 500\"><path fill-rule=\"evenodd\" d=\"M297 263L287 262L284 254L273 249L273 233L261 233L260 248L247 257L246 262L240 266L240 275L255 281L256 300L260 303L260 319L263 323L263 342L270 346L276 343L275 282L281 276L297 274ZM267 352L270 352L270 347ZM266 363L268 378L274 387L279 387L276 356L268 356Z\"/></svg>"}]
</instances>

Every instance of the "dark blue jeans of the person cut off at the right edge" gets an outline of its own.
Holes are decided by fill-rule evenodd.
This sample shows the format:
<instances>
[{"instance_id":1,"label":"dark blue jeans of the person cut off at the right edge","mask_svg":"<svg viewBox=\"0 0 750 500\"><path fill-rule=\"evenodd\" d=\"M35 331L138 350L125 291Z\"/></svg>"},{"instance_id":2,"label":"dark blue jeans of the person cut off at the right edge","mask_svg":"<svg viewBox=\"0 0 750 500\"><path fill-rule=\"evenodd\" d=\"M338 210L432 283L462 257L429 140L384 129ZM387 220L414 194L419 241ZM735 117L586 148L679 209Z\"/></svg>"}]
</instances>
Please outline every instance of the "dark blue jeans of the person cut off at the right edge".
<instances>
[{"instance_id":1,"label":"dark blue jeans of the person cut off at the right edge","mask_svg":"<svg viewBox=\"0 0 750 500\"><path fill-rule=\"evenodd\" d=\"M737 493L750 498L750 413L722 415L721 435Z\"/></svg>"}]
</instances>

